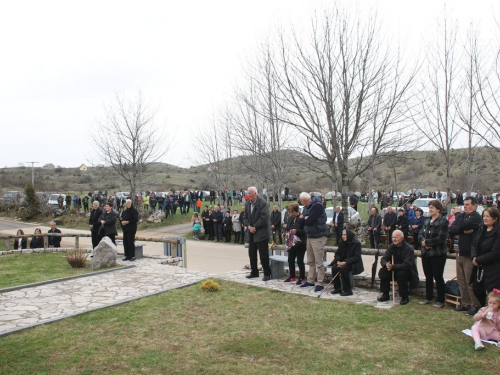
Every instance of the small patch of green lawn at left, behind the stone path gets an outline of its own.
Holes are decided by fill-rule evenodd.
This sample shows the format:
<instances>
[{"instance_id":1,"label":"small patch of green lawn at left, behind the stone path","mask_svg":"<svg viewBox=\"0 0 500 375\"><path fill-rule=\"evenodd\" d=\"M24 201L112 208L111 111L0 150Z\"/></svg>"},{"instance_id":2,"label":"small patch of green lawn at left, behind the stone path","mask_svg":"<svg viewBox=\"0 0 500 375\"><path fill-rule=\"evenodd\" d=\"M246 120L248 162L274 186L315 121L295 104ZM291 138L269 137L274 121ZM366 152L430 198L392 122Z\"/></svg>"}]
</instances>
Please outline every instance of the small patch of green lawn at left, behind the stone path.
<instances>
[{"instance_id":1,"label":"small patch of green lawn at left, behind the stone path","mask_svg":"<svg viewBox=\"0 0 500 375\"><path fill-rule=\"evenodd\" d=\"M66 253L10 254L0 256L0 288L92 272L71 268ZM1 373L1 371L0 371Z\"/></svg>"}]
</instances>

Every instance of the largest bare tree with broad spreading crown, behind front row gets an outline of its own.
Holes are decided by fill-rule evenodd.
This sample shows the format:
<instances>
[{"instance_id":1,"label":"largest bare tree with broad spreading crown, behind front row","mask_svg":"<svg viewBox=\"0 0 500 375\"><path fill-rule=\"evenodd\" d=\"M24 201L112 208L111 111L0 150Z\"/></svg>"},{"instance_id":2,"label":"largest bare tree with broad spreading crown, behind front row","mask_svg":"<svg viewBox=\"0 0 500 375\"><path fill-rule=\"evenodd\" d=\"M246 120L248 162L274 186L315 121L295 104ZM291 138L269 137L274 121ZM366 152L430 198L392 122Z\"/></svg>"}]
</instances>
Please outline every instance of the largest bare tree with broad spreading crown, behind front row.
<instances>
[{"instance_id":1,"label":"largest bare tree with broad spreading crown, behind front row","mask_svg":"<svg viewBox=\"0 0 500 375\"><path fill-rule=\"evenodd\" d=\"M414 78L384 47L376 17L364 20L334 8L312 20L309 42L297 34L279 40L283 121L300 132L307 154L328 163L333 184L338 170L344 211L354 178L373 168L377 154L400 146Z\"/></svg>"}]
</instances>

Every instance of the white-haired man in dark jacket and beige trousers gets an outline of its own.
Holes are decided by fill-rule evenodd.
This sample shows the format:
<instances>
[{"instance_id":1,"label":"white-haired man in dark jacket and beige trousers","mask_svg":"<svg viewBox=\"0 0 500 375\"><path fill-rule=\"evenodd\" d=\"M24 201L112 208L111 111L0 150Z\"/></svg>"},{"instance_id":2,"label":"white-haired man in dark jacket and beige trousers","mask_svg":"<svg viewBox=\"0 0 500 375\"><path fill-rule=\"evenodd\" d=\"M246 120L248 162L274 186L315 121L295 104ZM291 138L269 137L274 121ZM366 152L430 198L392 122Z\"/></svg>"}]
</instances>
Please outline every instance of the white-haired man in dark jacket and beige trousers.
<instances>
[{"instance_id":1,"label":"white-haired man in dark jacket and beige trousers","mask_svg":"<svg viewBox=\"0 0 500 375\"><path fill-rule=\"evenodd\" d=\"M325 256L325 244L327 239L326 212L318 197L311 197L306 192L300 194L300 201L304 205L304 230L307 235L307 265L309 271L307 281L301 288L315 286L315 292L324 289L325 267L323 258ZM316 275L318 285L315 285Z\"/></svg>"}]
</instances>

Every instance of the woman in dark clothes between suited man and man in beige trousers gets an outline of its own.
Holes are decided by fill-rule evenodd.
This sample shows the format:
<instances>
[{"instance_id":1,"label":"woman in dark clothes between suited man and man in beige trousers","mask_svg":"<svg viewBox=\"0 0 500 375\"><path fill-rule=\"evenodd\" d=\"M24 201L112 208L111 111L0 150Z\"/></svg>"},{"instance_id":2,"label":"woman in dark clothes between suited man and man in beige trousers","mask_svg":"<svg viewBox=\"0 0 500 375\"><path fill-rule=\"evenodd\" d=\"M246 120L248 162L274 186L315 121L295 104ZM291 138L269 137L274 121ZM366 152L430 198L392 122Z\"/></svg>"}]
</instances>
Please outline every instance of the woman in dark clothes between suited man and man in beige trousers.
<instances>
[{"instance_id":1,"label":"woman in dark clothes between suited man and man in beige trousers","mask_svg":"<svg viewBox=\"0 0 500 375\"><path fill-rule=\"evenodd\" d=\"M304 231L304 217L300 215L299 205L297 203L290 204L287 207L287 211L290 214L286 224L288 234L297 236L300 241L288 250L288 269L290 270L290 277L286 279L285 282L295 282L296 285L301 285L306 282L304 255L307 250L307 237ZM299 266L298 280L295 279L295 262L297 262Z\"/></svg>"}]
</instances>

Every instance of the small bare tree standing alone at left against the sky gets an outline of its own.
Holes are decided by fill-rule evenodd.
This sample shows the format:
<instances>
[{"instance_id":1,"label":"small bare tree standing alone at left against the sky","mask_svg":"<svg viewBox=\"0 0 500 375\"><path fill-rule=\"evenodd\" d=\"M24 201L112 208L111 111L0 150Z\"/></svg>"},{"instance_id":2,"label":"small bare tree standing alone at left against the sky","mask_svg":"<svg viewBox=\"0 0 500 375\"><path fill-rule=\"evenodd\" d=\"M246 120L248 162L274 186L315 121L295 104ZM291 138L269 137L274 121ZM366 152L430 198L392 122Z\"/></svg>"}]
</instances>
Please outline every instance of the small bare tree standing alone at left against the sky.
<instances>
[{"instance_id":1,"label":"small bare tree standing alone at left against the sky","mask_svg":"<svg viewBox=\"0 0 500 375\"><path fill-rule=\"evenodd\" d=\"M98 157L130 186L132 194L148 175L151 164L158 162L168 151L169 143L155 125L156 110L151 109L141 92L133 100L116 93L105 115L97 119L93 134L101 138L92 142Z\"/></svg>"}]
</instances>

